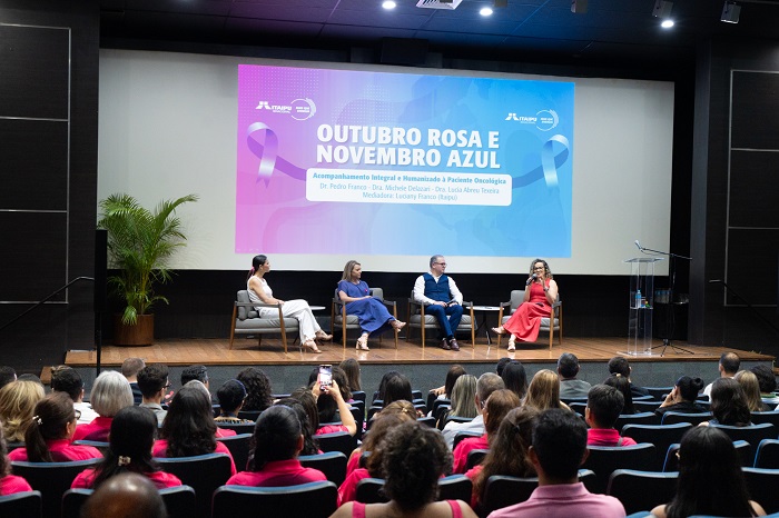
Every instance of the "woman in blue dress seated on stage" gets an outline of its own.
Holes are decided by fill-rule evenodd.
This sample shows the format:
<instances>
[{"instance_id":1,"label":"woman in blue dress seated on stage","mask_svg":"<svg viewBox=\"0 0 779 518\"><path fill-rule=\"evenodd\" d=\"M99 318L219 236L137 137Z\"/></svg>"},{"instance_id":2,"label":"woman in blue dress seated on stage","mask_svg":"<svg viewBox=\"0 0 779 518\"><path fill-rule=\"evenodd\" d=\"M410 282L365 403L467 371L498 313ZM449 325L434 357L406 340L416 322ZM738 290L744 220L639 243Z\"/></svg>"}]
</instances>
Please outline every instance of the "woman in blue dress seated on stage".
<instances>
[{"instance_id":1,"label":"woman in blue dress seated on stage","mask_svg":"<svg viewBox=\"0 0 779 518\"><path fill-rule=\"evenodd\" d=\"M369 350L369 335L376 331L384 332L391 327L401 330L406 323L396 320L382 301L369 295L368 285L359 279L362 273L363 267L359 262L348 261L338 282L338 297L346 305L346 313L357 317L363 335L357 339L356 348L366 351Z\"/></svg>"}]
</instances>

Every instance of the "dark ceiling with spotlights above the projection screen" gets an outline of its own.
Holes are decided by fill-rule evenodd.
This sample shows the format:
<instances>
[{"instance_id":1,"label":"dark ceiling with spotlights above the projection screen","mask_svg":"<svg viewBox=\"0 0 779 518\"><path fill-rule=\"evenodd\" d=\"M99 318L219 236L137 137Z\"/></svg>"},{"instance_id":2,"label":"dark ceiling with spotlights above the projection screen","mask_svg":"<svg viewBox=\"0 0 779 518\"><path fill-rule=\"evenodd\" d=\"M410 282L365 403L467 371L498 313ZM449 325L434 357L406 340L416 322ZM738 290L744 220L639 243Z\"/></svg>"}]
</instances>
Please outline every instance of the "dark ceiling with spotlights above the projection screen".
<instances>
[{"instance_id":1,"label":"dark ceiling with spotlights above the projection screen","mask_svg":"<svg viewBox=\"0 0 779 518\"><path fill-rule=\"evenodd\" d=\"M654 0L589 0L583 13L571 12L571 0L507 0L491 18L479 10L492 0L462 0L455 10L395 1L386 11L382 0L100 0L101 39L377 49L384 38L414 38L464 58L651 66L689 63L710 38L779 39L779 0L739 2L738 24L720 21L723 0L676 0L671 30L652 17Z\"/></svg>"}]
</instances>

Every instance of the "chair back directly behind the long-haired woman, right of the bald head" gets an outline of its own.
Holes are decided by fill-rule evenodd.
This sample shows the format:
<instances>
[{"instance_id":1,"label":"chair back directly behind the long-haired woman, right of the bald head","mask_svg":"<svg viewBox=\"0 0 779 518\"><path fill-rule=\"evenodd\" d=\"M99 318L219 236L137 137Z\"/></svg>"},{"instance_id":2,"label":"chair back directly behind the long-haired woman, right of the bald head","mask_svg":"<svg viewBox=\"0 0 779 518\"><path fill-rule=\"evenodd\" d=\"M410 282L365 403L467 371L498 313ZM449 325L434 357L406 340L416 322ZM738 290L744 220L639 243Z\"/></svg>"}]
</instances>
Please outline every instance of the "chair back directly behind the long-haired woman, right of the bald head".
<instances>
[{"instance_id":1,"label":"chair back directly behind the long-haired woman, right of the bald head","mask_svg":"<svg viewBox=\"0 0 779 518\"><path fill-rule=\"evenodd\" d=\"M196 516L207 518L211 495L224 486L231 475L230 458L225 454L207 454L193 457L155 458L160 467L175 476L181 484L191 486L197 496Z\"/></svg>"}]
</instances>

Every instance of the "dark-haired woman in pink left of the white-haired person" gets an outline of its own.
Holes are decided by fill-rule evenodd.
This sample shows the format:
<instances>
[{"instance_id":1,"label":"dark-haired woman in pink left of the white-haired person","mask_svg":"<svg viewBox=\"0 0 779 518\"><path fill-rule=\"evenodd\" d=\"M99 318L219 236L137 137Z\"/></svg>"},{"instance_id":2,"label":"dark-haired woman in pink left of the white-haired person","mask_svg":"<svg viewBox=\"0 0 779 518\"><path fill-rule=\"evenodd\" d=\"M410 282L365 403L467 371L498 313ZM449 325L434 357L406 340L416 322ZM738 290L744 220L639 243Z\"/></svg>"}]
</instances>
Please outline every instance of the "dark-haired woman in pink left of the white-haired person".
<instances>
[{"instance_id":1,"label":"dark-haired woman in pink left of the white-haired person","mask_svg":"<svg viewBox=\"0 0 779 518\"><path fill-rule=\"evenodd\" d=\"M127 381L125 385L129 390ZM79 415L73 410L70 396L51 392L36 405L24 434L24 448L14 449L8 454L8 458L30 462L67 462L102 457L97 448L71 444Z\"/></svg>"}]
</instances>

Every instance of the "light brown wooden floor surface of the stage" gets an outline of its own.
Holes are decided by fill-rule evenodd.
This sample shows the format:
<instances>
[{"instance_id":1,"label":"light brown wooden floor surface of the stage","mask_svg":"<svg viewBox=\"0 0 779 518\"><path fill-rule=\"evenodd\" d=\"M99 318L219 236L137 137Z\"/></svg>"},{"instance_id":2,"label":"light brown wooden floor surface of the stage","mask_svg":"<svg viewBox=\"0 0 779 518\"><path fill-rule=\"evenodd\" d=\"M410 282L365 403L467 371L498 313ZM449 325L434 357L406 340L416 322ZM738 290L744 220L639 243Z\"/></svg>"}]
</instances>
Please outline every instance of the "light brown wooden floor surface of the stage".
<instances>
[{"instance_id":1,"label":"light brown wooden floor surface of the stage","mask_svg":"<svg viewBox=\"0 0 779 518\"><path fill-rule=\"evenodd\" d=\"M604 362L610 358L625 355L627 338L569 338L565 337L563 346L555 342L549 350L549 342L523 343L516 352L506 352L505 340L502 347L495 343L489 347L483 338L476 340L475 347L470 342L461 341L460 352L446 351L435 347L436 341L430 341L424 349L418 341L406 342L398 340L395 349L394 340L385 339L379 347L377 340L371 340L371 351L356 351L355 339L346 342L346 349L341 342L327 342L319 348L322 353L308 351L302 352L297 343L288 341L288 352L284 352L280 339L263 339L263 346L258 349L256 339L236 339L233 349L228 348L227 339L166 339L157 340L149 347L116 347L103 346L101 365L106 367L120 366L125 358L139 357L146 362L166 363L168 366L203 365L312 365L312 363L338 363L346 358L356 358L361 363L375 365L408 365L408 363L484 363L494 362L499 358L510 356L525 363L556 361L562 352L573 352L580 362ZM630 356L631 362L679 362L679 361L718 361L726 350L736 350L724 347L697 347L686 342L676 341L674 346L688 349L692 353L674 350L668 347L662 356L662 342L657 340L652 356ZM517 343L519 346L519 343ZM737 350L741 360L773 361L772 356L757 352ZM91 350L68 351L66 365L71 367L93 367L97 362L97 352Z\"/></svg>"}]
</instances>

